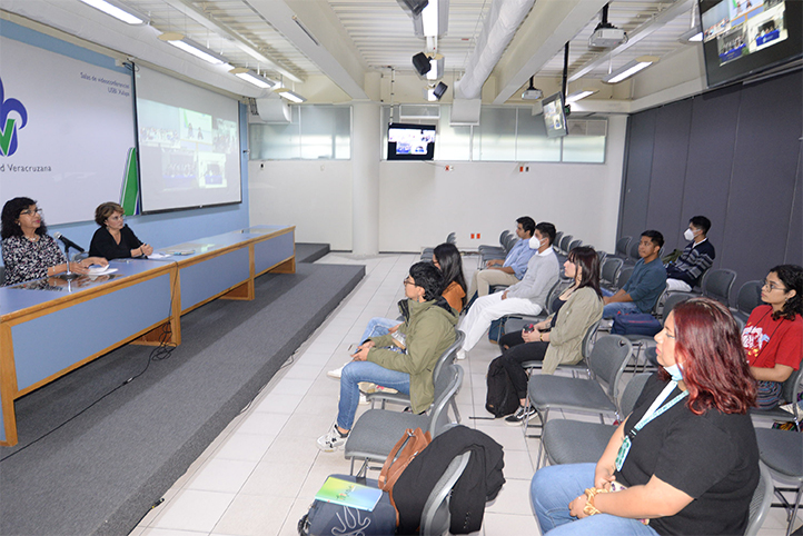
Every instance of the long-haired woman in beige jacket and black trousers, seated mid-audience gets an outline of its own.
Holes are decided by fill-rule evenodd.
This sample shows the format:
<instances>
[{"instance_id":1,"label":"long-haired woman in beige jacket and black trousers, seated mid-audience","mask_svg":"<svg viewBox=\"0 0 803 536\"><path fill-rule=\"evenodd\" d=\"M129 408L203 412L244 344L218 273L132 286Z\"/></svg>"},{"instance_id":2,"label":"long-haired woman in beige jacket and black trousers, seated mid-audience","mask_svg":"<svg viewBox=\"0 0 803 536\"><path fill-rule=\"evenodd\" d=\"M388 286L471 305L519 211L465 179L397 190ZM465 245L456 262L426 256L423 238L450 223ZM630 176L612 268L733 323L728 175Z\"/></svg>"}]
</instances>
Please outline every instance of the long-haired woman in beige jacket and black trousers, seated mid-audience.
<instances>
[{"instance_id":1,"label":"long-haired woman in beige jacket and black trousers, seated mid-audience","mask_svg":"<svg viewBox=\"0 0 803 536\"><path fill-rule=\"evenodd\" d=\"M515 331L499 340L507 346L502 354L502 364L521 404L515 414L505 418L507 424L518 425L535 414L535 408L525 409L527 373L522 364L543 360L542 374L553 374L558 365L578 363L583 359L581 350L585 332L602 318L599 257L594 248L574 248L563 268L574 284L552 304L554 312L534 325L532 331Z\"/></svg>"}]
</instances>

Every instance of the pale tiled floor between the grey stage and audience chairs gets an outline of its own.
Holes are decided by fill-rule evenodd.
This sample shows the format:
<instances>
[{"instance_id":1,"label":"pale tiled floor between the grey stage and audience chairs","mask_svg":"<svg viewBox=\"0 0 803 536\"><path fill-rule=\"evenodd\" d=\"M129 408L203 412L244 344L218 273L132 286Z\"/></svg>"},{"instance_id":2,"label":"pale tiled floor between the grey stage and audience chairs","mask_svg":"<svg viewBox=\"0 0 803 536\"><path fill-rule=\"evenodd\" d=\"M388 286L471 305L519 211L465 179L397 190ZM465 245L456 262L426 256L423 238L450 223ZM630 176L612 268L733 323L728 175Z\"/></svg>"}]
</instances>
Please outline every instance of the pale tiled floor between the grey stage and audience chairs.
<instances>
[{"instance_id":1,"label":"pale tiled floor between the grey stage and audience chairs","mask_svg":"<svg viewBox=\"0 0 803 536\"><path fill-rule=\"evenodd\" d=\"M326 477L348 473L343 453L326 454L315 440L333 424L339 384L326 376L348 360L367 321L395 318L404 296L402 280L418 256L383 255L357 259L330 254L319 262L364 264L366 278L296 353L255 400L220 434L151 510L131 536L291 536ZM476 266L465 259L466 275ZM465 368L457 396L463 424L474 426L505 448L507 483L486 507L482 534L538 535L529 506L537 439L521 428L486 417L485 373L498 350L479 343ZM360 406L358 415L367 406ZM796 526L800 526L799 519ZM785 516L773 508L760 535L784 534ZM477 533L477 534L480 534Z\"/></svg>"}]
</instances>

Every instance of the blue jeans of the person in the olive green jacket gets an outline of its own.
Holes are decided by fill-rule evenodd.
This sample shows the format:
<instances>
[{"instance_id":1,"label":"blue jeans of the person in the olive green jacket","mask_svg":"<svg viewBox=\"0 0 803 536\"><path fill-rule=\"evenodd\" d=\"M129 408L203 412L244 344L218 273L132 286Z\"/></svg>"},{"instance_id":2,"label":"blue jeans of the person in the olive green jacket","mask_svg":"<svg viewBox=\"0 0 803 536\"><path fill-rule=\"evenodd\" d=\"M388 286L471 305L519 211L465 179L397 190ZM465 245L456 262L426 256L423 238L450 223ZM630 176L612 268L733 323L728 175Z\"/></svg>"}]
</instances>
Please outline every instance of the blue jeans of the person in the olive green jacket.
<instances>
[{"instance_id":1,"label":"blue jeans of the person in the olive green jacket","mask_svg":"<svg viewBox=\"0 0 803 536\"><path fill-rule=\"evenodd\" d=\"M351 361L340 374L340 401L337 406L337 426L350 430L354 415L359 404L359 384L370 381L383 387L390 387L402 394L410 393L410 375L390 370L370 361Z\"/></svg>"}]
</instances>

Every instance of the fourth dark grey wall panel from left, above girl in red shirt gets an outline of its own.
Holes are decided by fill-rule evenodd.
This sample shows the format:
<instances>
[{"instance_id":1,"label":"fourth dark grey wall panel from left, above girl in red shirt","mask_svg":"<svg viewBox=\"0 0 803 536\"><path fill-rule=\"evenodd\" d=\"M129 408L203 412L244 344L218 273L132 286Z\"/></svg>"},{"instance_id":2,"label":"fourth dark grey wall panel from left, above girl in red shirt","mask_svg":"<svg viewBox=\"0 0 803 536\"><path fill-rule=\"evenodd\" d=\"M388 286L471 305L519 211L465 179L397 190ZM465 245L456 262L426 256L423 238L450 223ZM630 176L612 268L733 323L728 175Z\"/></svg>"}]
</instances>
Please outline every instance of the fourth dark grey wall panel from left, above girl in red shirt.
<instances>
[{"instance_id":1,"label":"fourth dark grey wall panel from left, above girl in red shirt","mask_svg":"<svg viewBox=\"0 0 803 536\"><path fill-rule=\"evenodd\" d=\"M800 155L801 73L744 86L721 264L736 287L782 262Z\"/></svg>"}]
</instances>

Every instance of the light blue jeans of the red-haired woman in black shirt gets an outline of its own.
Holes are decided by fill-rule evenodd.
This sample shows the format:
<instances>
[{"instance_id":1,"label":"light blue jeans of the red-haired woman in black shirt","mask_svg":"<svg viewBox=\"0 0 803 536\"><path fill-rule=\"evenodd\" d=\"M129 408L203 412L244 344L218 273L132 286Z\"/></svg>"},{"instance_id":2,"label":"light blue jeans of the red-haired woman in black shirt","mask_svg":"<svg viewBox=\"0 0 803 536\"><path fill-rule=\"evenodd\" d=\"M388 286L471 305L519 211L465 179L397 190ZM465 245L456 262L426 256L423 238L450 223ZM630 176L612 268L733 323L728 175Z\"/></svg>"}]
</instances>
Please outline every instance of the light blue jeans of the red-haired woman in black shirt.
<instances>
[{"instance_id":1,"label":"light blue jeans of the red-haired woman in black shirt","mask_svg":"<svg viewBox=\"0 0 803 536\"><path fill-rule=\"evenodd\" d=\"M553 465L538 469L529 488L529 500L542 534L549 536L657 536L648 525L636 519L596 514L577 519L568 504L594 486L596 464Z\"/></svg>"}]
</instances>

